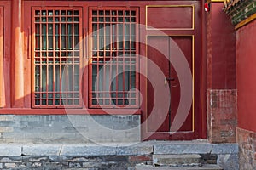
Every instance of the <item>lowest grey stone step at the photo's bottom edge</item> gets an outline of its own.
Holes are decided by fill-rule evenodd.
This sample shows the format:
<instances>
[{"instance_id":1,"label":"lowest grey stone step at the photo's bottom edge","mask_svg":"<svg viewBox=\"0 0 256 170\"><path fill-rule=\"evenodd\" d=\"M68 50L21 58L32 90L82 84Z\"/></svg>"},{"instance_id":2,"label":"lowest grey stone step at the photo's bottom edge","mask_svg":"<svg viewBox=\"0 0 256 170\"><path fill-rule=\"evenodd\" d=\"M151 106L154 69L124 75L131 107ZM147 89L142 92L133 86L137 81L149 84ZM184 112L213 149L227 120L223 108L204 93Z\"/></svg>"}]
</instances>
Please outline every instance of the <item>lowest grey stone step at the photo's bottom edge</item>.
<instances>
[{"instance_id":1,"label":"lowest grey stone step at the photo's bottom edge","mask_svg":"<svg viewBox=\"0 0 256 170\"><path fill-rule=\"evenodd\" d=\"M223 170L223 168L214 164L206 164L202 167L153 167L152 165L138 164L135 170Z\"/></svg>"}]
</instances>

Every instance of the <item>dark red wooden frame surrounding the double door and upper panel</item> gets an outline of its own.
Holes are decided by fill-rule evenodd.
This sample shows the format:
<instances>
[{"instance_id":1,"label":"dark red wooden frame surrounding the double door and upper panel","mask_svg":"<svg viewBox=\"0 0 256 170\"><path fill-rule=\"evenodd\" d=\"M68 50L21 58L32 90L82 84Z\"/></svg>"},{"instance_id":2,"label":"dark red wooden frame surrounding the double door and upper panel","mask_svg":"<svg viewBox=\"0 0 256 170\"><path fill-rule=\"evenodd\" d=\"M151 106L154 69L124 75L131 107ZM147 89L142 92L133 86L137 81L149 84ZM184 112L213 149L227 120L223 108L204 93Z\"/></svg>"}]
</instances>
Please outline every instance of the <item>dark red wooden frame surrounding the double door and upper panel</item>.
<instances>
[{"instance_id":1,"label":"dark red wooden frame surrounding the double door and upper panel","mask_svg":"<svg viewBox=\"0 0 256 170\"><path fill-rule=\"evenodd\" d=\"M160 3L163 5L165 3ZM192 31L165 31L167 35L193 35L195 37L195 77L194 77L194 108L195 108L195 131L194 133L149 133L147 130L147 103L143 103L142 108L142 139L170 139L170 140L189 140L199 139L207 137L207 122L206 122L206 77L207 75L202 71L206 71L206 34L204 26L203 3L202 2L169 2L168 5L191 5L195 7L195 30ZM143 12L142 12L143 13ZM141 38L147 37L148 35L154 35L154 31L145 31L141 35ZM146 42L146 41L145 41ZM143 50L144 47L142 45ZM147 55L145 51L142 51L143 55ZM145 65L141 65L142 69L146 69ZM203 76L203 77L202 77ZM141 77L141 87L147 87L145 77ZM141 88L143 90L143 88ZM142 92L142 91L141 91ZM147 90L143 90L143 94L147 96ZM147 97L146 97L147 98Z\"/></svg>"}]
</instances>

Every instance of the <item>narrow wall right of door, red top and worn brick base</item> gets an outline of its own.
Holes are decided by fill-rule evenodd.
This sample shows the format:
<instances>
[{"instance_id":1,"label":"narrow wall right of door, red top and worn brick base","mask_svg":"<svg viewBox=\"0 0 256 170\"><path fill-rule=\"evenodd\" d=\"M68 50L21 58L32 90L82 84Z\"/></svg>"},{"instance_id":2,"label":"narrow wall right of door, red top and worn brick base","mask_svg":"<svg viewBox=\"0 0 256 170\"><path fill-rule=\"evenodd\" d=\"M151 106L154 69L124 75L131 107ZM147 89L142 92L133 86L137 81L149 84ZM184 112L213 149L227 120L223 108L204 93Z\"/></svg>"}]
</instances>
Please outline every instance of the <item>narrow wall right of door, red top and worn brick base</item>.
<instances>
[{"instance_id":1,"label":"narrow wall right of door, red top and worn brick base","mask_svg":"<svg viewBox=\"0 0 256 170\"><path fill-rule=\"evenodd\" d=\"M224 3L207 13L207 136L212 143L236 142L236 31Z\"/></svg>"}]
</instances>

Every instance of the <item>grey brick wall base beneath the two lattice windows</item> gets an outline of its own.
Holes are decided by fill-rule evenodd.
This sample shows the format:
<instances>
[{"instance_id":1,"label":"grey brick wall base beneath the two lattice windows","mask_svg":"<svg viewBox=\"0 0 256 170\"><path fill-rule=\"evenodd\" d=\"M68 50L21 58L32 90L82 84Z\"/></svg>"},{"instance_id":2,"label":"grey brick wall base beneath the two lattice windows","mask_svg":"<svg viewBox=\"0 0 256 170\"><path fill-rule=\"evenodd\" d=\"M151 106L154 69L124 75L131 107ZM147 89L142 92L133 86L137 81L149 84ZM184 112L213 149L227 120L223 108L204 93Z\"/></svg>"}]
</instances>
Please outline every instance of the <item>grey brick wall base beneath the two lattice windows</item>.
<instances>
[{"instance_id":1,"label":"grey brick wall base beneath the two lattice windows","mask_svg":"<svg viewBox=\"0 0 256 170\"><path fill-rule=\"evenodd\" d=\"M0 115L0 143L139 142L139 115Z\"/></svg>"}]
</instances>

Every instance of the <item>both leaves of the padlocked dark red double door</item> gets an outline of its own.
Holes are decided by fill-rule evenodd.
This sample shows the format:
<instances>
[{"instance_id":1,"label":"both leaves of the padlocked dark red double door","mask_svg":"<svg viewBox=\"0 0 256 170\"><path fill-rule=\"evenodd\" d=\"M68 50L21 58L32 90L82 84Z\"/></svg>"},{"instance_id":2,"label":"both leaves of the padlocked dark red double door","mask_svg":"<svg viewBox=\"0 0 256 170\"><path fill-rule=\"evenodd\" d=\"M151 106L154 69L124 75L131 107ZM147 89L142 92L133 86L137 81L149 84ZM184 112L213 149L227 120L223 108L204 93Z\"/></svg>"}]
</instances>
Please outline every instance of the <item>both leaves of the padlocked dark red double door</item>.
<instances>
[{"instance_id":1,"label":"both leaves of the padlocked dark red double door","mask_svg":"<svg viewBox=\"0 0 256 170\"><path fill-rule=\"evenodd\" d=\"M153 36L148 37L148 132L175 133L172 125L177 119L178 107L189 107L187 113L180 112L182 116L176 125L178 132L192 133L194 131L193 111L193 36ZM172 47L173 43L177 46ZM153 46L153 47L152 47ZM177 48L177 49L174 49ZM173 52L180 50L181 53ZM172 58L184 57L186 63L178 63L179 67L189 66L190 72L176 71ZM160 70L160 71L156 71ZM178 75L181 74L181 75ZM185 75L187 74L187 75ZM189 75L191 74L191 75ZM191 103L181 100L181 82L185 78L185 88L190 88L186 96ZM190 79L190 80L189 80ZM191 82L190 82L191 81ZM157 85L156 85L157 84ZM177 125L179 123L180 125Z\"/></svg>"}]
</instances>

